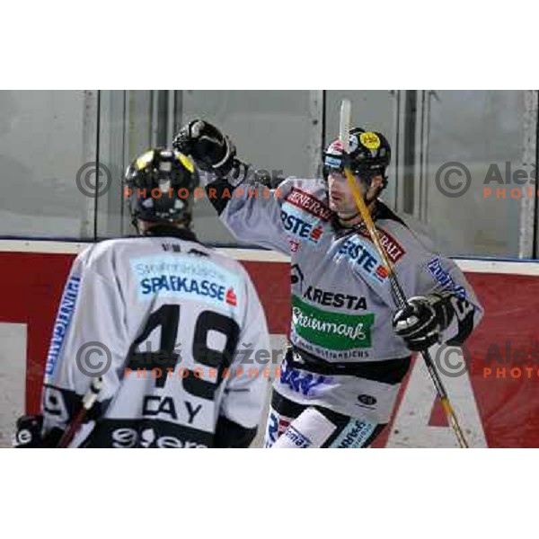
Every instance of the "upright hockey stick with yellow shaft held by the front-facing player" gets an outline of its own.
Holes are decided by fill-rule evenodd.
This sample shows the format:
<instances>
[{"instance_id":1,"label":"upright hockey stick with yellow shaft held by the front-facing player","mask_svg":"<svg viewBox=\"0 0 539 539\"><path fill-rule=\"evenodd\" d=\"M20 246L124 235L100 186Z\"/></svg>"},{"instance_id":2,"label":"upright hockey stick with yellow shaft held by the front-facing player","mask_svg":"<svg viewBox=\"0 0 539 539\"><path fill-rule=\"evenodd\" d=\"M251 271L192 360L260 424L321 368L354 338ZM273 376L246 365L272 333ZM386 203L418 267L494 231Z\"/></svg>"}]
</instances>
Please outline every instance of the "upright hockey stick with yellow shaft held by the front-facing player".
<instances>
[{"instance_id":1,"label":"upright hockey stick with yellow shaft held by the front-facing player","mask_svg":"<svg viewBox=\"0 0 539 539\"><path fill-rule=\"evenodd\" d=\"M339 137L340 137L340 142L342 144L343 153L348 153L349 151L350 118L351 118L351 103L349 102L348 99L345 99L342 101L340 105L340 129L339 129ZM397 275L393 269L393 264L387 257L387 253L385 252L384 247L382 246L382 243L380 243L380 238L378 236L378 231L376 230L376 226L373 223L373 220L367 209L365 201L363 200L363 197L359 193L358 186L356 185L356 181L354 179L354 175L350 171L349 166L346 165L346 162L345 162L345 167L344 167L344 174L346 176L347 181L349 182L349 187L352 190L352 194L354 196L356 206L358 207L359 214L361 215L365 225L367 226L368 234L370 235L372 242L375 244L376 251L380 255L380 258L382 259L384 269L387 272L387 277L389 278L389 282L391 284L393 301L395 305L397 306L397 308L402 309L407 305L406 296L404 296L404 291L402 290L401 283L399 282L399 279L397 278ZM434 386L436 387L438 397L440 399L440 402L442 403L442 407L444 408L444 411L446 412L447 421L449 422L449 425L455 432L455 437L458 441L458 445L462 448L468 447L468 443L466 441L466 438L464 437L464 432L461 429L458 420L456 419L455 411L453 411L453 406L451 405L451 402L449 402L449 397L447 396L446 388L444 387L444 384L442 384L442 381L437 373L436 367L434 366L432 362L432 358L430 358L429 350L428 349L422 350L421 356L423 357L425 361L425 365L427 366L427 369L429 370L429 375L432 378L432 382L434 383Z\"/></svg>"}]
</instances>

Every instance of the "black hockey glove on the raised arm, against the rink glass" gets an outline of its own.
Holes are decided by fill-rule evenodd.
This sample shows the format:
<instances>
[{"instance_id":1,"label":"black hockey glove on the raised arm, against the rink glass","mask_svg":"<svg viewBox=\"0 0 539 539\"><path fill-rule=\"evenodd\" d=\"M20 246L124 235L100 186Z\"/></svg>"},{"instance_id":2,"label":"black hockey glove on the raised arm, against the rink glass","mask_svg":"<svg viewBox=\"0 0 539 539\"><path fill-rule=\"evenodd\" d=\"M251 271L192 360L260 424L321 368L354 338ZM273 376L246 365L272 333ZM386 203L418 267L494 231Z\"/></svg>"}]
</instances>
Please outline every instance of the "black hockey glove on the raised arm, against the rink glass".
<instances>
[{"instance_id":1,"label":"black hockey glove on the raised arm, against the rink glass","mask_svg":"<svg viewBox=\"0 0 539 539\"><path fill-rule=\"evenodd\" d=\"M234 167L234 144L203 119L193 119L181 128L172 146L182 154L190 155L205 172L215 172L223 177Z\"/></svg>"}]
</instances>

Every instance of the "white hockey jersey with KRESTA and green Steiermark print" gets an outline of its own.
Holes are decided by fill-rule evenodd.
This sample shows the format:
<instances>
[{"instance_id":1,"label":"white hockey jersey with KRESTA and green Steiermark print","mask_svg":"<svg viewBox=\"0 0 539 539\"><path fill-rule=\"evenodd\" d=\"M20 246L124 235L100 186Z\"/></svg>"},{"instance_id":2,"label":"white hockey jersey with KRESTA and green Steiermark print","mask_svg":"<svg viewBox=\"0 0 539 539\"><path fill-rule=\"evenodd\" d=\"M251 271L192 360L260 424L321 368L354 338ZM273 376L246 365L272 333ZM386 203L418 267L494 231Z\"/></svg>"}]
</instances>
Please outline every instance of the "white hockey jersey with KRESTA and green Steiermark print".
<instances>
[{"instance_id":1,"label":"white hockey jersey with KRESTA and green Steiermark print","mask_svg":"<svg viewBox=\"0 0 539 539\"><path fill-rule=\"evenodd\" d=\"M334 226L323 180L288 178L275 190L260 183L232 189L216 180L207 188L239 240L291 258L294 354L283 361L276 391L303 405L386 423L411 353L393 331L392 289L365 227ZM405 295L451 294L456 315L444 342L464 342L482 306L462 271L383 202L374 217Z\"/></svg>"}]
</instances>

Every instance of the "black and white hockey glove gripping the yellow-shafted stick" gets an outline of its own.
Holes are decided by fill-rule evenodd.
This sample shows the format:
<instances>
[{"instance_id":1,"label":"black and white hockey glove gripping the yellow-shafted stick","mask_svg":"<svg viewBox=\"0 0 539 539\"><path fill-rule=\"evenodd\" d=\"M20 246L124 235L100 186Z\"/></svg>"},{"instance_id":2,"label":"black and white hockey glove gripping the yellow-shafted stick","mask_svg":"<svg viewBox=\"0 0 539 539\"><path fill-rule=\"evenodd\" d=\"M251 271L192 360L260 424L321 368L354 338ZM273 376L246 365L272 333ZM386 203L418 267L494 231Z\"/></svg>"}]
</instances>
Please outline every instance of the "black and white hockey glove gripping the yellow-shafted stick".
<instances>
[{"instance_id":1,"label":"black and white hockey glove gripping the yellow-shafted stick","mask_svg":"<svg viewBox=\"0 0 539 539\"><path fill-rule=\"evenodd\" d=\"M393 330L411 351L426 350L441 340L453 318L450 296L430 294L411 297L393 316Z\"/></svg>"}]
</instances>

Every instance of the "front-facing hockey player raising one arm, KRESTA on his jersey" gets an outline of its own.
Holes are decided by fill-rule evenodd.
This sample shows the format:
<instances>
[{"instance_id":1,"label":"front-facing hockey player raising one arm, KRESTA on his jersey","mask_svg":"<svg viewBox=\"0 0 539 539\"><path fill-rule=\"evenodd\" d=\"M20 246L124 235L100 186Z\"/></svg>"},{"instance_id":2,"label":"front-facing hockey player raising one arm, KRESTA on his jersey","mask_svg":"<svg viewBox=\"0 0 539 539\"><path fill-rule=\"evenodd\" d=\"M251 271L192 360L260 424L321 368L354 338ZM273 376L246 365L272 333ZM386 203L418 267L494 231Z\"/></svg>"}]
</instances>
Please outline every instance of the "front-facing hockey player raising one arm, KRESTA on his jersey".
<instances>
[{"instance_id":1,"label":"front-facing hockey player raising one arm, KRESTA on his jersey","mask_svg":"<svg viewBox=\"0 0 539 539\"><path fill-rule=\"evenodd\" d=\"M328 146L323 178L288 178L270 196L245 181L249 167L208 122L191 121L173 146L211 173L208 199L238 239L291 257L291 346L273 386L265 446L369 446L391 418L411 351L463 343L482 317L455 263L379 199L391 159L384 135L352 129L347 154L340 141ZM410 298L396 313L345 164Z\"/></svg>"}]
</instances>

